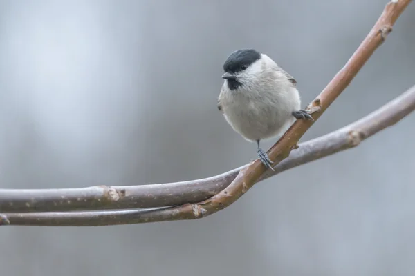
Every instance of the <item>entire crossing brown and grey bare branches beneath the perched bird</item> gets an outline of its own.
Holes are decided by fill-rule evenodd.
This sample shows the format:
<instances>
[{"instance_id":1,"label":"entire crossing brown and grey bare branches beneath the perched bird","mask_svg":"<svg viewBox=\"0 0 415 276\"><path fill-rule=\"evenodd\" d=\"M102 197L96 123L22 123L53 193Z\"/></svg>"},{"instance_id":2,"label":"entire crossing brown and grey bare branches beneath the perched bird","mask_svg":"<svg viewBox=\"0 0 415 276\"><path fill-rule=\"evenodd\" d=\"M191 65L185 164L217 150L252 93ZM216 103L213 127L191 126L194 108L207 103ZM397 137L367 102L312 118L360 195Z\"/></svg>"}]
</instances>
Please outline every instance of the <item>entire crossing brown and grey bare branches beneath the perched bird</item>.
<instances>
[{"instance_id":1,"label":"entire crossing brown and grey bare branches beneath the perched bird","mask_svg":"<svg viewBox=\"0 0 415 276\"><path fill-rule=\"evenodd\" d=\"M376 22L374 28L359 46L347 64L338 72L320 95L308 106L316 120L338 95L349 85L360 68L391 32L391 26L410 0L391 1ZM275 160L276 172L299 166L308 161L356 146L362 139L394 124L414 110L414 88L388 103L387 106L346 128L324 137L308 141L295 150L297 141L311 127L311 121L296 121L279 139L268 155ZM394 110L395 108L395 110ZM284 158L288 157L288 159ZM281 162L281 163L279 163ZM54 190L0 190L0 224L19 225L107 225L195 219L205 217L229 206L257 181L273 175L259 161L226 172L223 175L177 184L154 184L150 186L90 187ZM237 176L236 176L237 175ZM236 177L235 177L236 176ZM230 183L232 181L232 183ZM230 185L228 186L228 184ZM148 197L154 195L155 197ZM146 191L146 193L142 193ZM181 193L182 192L182 193ZM183 193L185 192L185 193ZM159 195L159 197L157 197ZM213 197L211 197L213 195ZM147 201L144 200L147 198ZM204 200L204 201L203 201ZM195 203L201 201L199 203ZM189 203L190 202L190 203ZM104 208L143 208L156 206L181 206L158 210L126 210L80 213L6 213L52 210L86 210Z\"/></svg>"}]
</instances>

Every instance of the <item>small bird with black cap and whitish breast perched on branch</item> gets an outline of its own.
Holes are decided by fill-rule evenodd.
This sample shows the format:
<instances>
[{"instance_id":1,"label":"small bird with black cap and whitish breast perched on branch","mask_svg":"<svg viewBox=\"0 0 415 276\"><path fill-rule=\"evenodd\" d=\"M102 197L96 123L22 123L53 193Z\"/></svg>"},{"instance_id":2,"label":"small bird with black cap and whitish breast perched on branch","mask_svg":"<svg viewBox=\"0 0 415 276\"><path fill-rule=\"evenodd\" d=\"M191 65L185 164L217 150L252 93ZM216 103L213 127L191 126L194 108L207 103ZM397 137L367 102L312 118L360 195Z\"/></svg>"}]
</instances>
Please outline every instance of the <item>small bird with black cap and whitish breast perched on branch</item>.
<instances>
[{"instance_id":1,"label":"small bird with black cap and whitish breast perched on branch","mask_svg":"<svg viewBox=\"0 0 415 276\"><path fill-rule=\"evenodd\" d=\"M259 159L273 170L273 161L260 148L260 141L282 135L295 119L313 120L306 110L300 110L297 81L254 49L232 52L223 70L218 109L243 138L257 142Z\"/></svg>"}]
</instances>

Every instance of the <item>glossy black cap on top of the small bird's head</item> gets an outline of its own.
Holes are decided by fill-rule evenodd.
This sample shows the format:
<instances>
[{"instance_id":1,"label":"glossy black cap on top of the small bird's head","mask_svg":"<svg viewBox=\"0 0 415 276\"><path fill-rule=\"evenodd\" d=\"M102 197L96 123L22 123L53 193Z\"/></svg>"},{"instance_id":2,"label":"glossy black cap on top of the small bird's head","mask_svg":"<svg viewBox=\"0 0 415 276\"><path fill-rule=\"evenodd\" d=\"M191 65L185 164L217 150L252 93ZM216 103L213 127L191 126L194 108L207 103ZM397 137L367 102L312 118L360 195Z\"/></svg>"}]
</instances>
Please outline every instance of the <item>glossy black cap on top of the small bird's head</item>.
<instances>
[{"instance_id":1,"label":"glossy black cap on top of the small bird's head","mask_svg":"<svg viewBox=\"0 0 415 276\"><path fill-rule=\"evenodd\" d=\"M261 58L261 53L254 49L236 50L230 54L223 64L225 72L239 72L243 70L241 66L250 66L252 63Z\"/></svg>"}]
</instances>

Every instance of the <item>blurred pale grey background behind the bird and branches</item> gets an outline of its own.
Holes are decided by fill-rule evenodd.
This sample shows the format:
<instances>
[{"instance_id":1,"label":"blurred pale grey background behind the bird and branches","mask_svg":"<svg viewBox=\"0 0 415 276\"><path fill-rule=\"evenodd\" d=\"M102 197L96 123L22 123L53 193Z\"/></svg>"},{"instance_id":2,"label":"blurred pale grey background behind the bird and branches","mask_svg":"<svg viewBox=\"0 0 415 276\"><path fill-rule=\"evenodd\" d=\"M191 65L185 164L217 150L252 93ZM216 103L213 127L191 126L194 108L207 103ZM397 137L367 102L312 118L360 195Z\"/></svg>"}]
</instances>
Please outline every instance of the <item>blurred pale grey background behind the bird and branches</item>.
<instances>
[{"instance_id":1,"label":"blurred pale grey background behind the bird and branches","mask_svg":"<svg viewBox=\"0 0 415 276\"><path fill-rule=\"evenodd\" d=\"M0 187L151 184L241 166L255 144L216 109L230 52L270 55L306 106L385 3L0 0ZM303 141L415 83L414 12ZM205 219L0 228L1 275L414 275L414 124L264 181Z\"/></svg>"}]
</instances>

